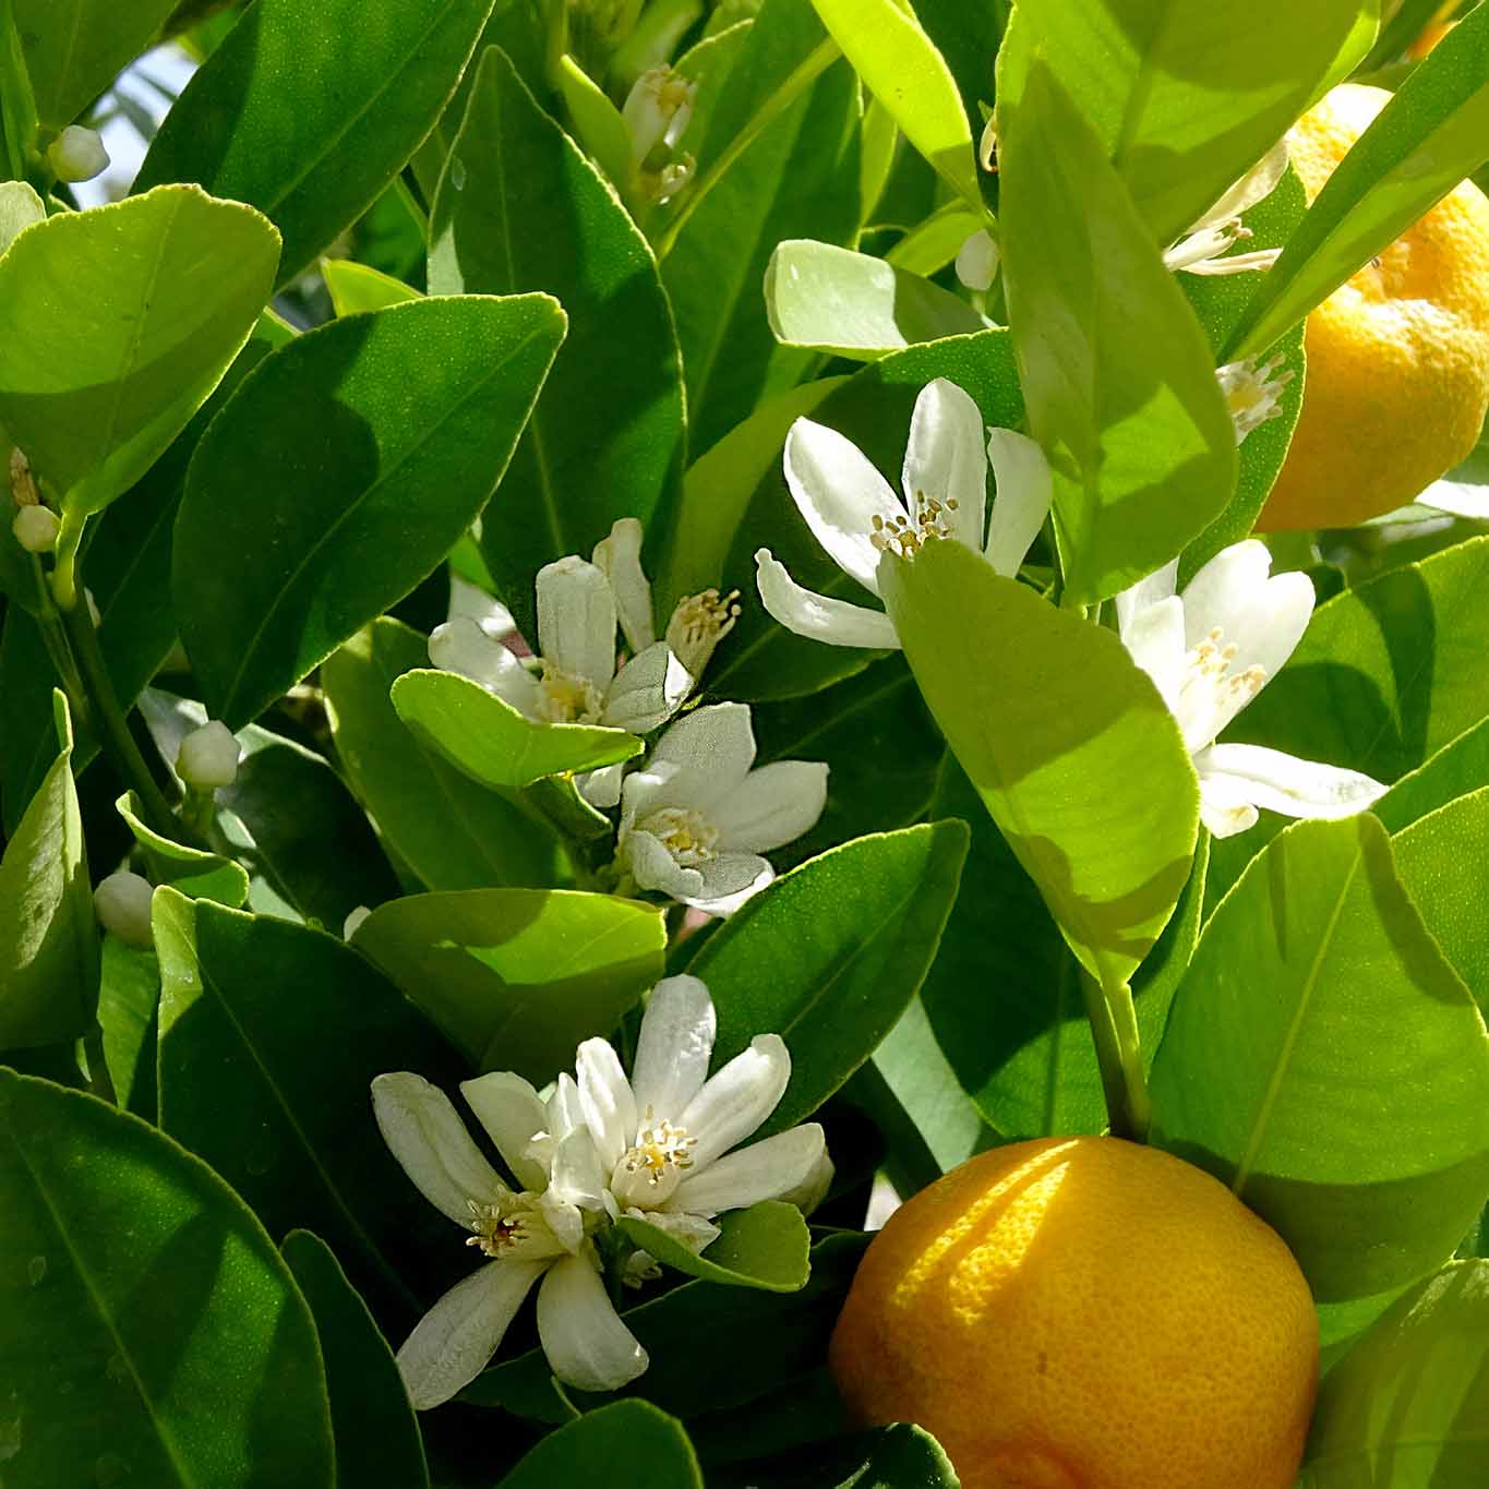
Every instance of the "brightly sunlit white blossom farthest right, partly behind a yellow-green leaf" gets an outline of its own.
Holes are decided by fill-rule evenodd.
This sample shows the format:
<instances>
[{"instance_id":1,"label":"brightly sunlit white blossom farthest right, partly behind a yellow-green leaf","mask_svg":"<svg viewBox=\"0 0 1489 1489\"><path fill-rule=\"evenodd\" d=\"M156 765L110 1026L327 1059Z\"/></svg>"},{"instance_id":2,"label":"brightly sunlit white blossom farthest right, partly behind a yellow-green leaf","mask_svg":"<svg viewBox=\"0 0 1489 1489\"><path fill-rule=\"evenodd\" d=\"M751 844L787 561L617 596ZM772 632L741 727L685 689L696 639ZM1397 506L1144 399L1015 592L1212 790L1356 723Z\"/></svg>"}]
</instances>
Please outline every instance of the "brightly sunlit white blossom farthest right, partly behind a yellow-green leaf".
<instances>
[{"instance_id":1,"label":"brightly sunlit white blossom farthest right, partly behind a yellow-green leaf","mask_svg":"<svg viewBox=\"0 0 1489 1489\"><path fill-rule=\"evenodd\" d=\"M1313 613L1307 575L1269 578L1257 539L1221 549L1173 593L1178 561L1117 596L1117 625L1133 661L1178 719L1200 777L1200 819L1215 837L1243 832L1257 809L1289 817L1348 817L1385 786L1354 770L1294 759L1215 737L1292 655Z\"/></svg>"}]
</instances>

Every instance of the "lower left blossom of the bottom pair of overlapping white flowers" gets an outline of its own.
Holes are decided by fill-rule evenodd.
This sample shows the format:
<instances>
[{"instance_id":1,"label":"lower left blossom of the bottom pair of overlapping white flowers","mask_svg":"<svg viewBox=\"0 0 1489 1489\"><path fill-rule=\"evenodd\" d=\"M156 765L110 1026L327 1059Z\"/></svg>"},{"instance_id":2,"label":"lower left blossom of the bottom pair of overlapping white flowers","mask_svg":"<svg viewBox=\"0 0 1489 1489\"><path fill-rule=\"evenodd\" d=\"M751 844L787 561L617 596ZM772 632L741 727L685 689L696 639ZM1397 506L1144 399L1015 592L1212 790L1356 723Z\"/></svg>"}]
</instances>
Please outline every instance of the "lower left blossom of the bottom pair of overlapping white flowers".
<instances>
[{"instance_id":1,"label":"lower left blossom of the bottom pair of overlapping white flowers","mask_svg":"<svg viewBox=\"0 0 1489 1489\"><path fill-rule=\"evenodd\" d=\"M399 1349L409 1401L427 1410L469 1385L539 1278L538 1337L554 1374L581 1391L634 1380L646 1351L615 1312L590 1239L608 1219L605 1175L573 1081L561 1078L546 1103L511 1072L460 1090L521 1190L497 1176L441 1090L406 1071L372 1083L378 1127L404 1172L490 1258Z\"/></svg>"}]
</instances>

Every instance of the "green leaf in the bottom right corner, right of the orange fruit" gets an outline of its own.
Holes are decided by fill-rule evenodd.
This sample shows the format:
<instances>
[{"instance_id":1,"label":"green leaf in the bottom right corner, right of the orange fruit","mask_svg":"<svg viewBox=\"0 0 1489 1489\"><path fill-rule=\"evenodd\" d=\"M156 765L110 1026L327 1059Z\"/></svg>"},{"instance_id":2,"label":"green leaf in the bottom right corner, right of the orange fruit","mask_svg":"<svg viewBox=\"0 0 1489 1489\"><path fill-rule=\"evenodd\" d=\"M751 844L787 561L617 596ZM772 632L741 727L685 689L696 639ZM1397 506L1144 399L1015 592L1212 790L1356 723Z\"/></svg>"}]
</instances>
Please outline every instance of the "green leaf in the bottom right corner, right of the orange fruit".
<instances>
[{"instance_id":1,"label":"green leaf in the bottom right corner, right of the orange fruit","mask_svg":"<svg viewBox=\"0 0 1489 1489\"><path fill-rule=\"evenodd\" d=\"M1412 1288L1328 1374L1300 1489L1489 1476L1489 1263L1455 1261Z\"/></svg>"}]
</instances>

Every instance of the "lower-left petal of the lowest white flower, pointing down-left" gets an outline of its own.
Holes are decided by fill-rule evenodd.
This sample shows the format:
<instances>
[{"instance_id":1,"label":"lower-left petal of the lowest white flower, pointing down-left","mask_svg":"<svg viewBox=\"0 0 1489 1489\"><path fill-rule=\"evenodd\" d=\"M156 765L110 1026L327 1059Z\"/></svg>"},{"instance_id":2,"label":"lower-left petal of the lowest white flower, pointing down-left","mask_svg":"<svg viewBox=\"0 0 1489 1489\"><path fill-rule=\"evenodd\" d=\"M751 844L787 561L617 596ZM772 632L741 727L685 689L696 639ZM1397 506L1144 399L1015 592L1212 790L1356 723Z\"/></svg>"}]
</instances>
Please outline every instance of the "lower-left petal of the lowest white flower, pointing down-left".
<instances>
[{"instance_id":1,"label":"lower-left petal of the lowest white flower, pointing down-left","mask_svg":"<svg viewBox=\"0 0 1489 1489\"><path fill-rule=\"evenodd\" d=\"M457 1282L398 1352L408 1400L418 1412L448 1401L485 1368L546 1261L491 1261Z\"/></svg>"}]
</instances>

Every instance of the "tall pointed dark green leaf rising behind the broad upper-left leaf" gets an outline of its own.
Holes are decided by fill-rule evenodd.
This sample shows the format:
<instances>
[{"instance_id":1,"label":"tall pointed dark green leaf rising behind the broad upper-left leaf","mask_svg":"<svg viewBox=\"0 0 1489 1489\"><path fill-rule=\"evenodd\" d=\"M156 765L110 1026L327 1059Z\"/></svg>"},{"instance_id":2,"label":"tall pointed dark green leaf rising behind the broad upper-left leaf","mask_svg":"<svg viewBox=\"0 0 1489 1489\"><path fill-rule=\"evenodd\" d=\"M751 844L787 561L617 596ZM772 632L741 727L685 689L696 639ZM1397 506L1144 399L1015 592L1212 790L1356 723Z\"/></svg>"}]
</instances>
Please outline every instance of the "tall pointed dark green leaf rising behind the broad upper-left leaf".
<instances>
[{"instance_id":1,"label":"tall pointed dark green leaf rising behind the broad upper-left leaf","mask_svg":"<svg viewBox=\"0 0 1489 1489\"><path fill-rule=\"evenodd\" d=\"M435 295L548 290L569 339L485 517L482 551L532 634L533 579L651 518L683 460L682 365L657 262L505 54L481 60L430 216Z\"/></svg>"}]
</instances>

